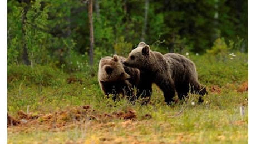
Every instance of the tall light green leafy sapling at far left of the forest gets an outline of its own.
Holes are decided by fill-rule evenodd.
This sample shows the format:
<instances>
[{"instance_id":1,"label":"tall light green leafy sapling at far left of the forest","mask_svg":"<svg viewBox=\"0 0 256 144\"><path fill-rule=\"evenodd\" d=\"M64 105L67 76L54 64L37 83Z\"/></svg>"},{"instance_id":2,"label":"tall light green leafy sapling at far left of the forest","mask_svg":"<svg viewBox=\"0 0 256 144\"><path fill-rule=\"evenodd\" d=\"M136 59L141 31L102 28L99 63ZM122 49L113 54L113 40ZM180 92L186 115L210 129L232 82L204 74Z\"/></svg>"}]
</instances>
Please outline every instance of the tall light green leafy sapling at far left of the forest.
<instances>
[{"instance_id":1,"label":"tall light green leafy sapling at far left of the forest","mask_svg":"<svg viewBox=\"0 0 256 144\"><path fill-rule=\"evenodd\" d=\"M28 57L31 67L35 64L43 64L50 60L47 51L48 8L41 9L41 0L36 0L26 13L24 24L24 39L28 49Z\"/></svg>"}]
</instances>

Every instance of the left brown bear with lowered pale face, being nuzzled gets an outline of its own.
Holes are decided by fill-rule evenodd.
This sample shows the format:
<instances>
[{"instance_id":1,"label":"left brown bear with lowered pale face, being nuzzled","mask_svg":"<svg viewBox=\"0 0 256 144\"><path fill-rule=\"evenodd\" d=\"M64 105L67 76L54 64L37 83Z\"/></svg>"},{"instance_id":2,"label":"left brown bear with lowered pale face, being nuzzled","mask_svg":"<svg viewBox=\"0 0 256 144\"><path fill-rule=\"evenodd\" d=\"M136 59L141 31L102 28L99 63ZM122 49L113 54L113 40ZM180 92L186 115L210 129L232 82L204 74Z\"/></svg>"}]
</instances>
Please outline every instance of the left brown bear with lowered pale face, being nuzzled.
<instances>
[{"instance_id":1,"label":"left brown bear with lowered pale face, being nuzzled","mask_svg":"<svg viewBox=\"0 0 256 144\"><path fill-rule=\"evenodd\" d=\"M113 58L106 56L99 62L98 81L102 92L109 96L112 94L116 100L117 94L128 96L133 101L134 87L139 84L139 69L125 66L122 61L126 58L114 55Z\"/></svg>"}]
</instances>

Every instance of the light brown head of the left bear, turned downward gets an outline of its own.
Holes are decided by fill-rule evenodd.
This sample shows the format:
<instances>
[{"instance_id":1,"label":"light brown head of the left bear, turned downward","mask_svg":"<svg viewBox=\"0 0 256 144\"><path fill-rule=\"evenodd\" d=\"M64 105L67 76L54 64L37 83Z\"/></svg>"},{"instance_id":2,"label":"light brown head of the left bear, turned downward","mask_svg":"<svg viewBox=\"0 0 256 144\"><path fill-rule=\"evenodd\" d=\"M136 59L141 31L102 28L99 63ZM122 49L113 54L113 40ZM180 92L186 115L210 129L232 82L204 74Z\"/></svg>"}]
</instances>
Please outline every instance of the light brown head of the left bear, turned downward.
<instances>
[{"instance_id":1,"label":"light brown head of the left bear, turned downward","mask_svg":"<svg viewBox=\"0 0 256 144\"><path fill-rule=\"evenodd\" d=\"M127 80L130 75L125 72L124 65L116 54L113 58L106 56L100 60L98 80L103 82Z\"/></svg>"}]
</instances>

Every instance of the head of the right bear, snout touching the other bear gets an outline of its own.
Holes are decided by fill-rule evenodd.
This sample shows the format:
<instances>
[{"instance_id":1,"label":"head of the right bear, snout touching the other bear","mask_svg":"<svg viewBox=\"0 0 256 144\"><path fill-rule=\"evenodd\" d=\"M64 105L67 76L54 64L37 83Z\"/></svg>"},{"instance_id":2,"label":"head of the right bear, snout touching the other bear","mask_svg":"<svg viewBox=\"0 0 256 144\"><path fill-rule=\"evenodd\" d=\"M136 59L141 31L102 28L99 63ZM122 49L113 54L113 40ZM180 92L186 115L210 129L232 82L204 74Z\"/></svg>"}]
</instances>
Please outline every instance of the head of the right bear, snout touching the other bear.
<instances>
[{"instance_id":1,"label":"head of the right bear, snout touching the other bear","mask_svg":"<svg viewBox=\"0 0 256 144\"><path fill-rule=\"evenodd\" d=\"M127 59L123 62L125 66L144 68L150 59L150 47L144 42L140 42L137 48L133 49Z\"/></svg>"}]
</instances>

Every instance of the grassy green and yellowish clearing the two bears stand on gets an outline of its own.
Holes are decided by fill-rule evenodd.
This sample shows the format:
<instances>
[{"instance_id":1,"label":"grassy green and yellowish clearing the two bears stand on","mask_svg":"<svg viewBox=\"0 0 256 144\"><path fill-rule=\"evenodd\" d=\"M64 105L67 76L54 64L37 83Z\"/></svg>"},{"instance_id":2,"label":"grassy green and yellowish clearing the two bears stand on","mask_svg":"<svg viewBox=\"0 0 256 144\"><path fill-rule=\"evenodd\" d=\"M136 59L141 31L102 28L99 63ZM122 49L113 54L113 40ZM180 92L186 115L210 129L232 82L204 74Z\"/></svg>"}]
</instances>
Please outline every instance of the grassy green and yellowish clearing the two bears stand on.
<instances>
[{"instance_id":1,"label":"grassy green and yellowish clearing the two bears stand on","mask_svg":"<svg viewBox=\"0 0 256 144\"><path fill-rule=\"evenodd\" d=\"M192 105L198 96L190 95L166 106L155 85L147 106L132 105L126 99L113 102L103 96L96 76L91 77L88 70L70 76L47 66L9 66L8 113L16 119L21 120L19 110L33 116L72 114L77 106L90 106L92 111L80 120L56 115L56 121L48 123L34 118L27 124L9 126L8 143L248 143L248 55L225 56L189 55L200 83L209 92L201 105ZM68 84L71 77L82 84ZM125 119L129 112L134 117ZM122 116L117 117L119 114Z\"/></svg>"}]
</instances>

